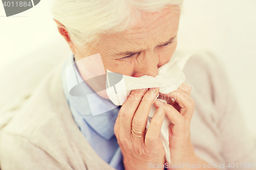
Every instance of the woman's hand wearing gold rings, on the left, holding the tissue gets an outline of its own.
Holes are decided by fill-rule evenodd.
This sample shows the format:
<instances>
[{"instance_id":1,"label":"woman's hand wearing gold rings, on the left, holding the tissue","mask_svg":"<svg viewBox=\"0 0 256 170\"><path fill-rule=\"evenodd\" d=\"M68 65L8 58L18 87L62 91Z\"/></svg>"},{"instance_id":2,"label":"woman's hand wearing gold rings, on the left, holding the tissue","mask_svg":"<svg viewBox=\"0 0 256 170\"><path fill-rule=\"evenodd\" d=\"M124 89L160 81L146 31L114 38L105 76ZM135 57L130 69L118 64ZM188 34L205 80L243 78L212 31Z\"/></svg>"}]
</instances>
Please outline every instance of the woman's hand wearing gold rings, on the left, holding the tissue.
<instances>
[{"instance_id":1,"label":"woman's hand wearing gold rings, on the left, holding the tissue","mask_svg":"<svg viewBox=\"0 0 256 170\"><path fill-rule=\"evenodd\" d=\"M133 90L119 111L114 131L123 154L125 170L164 169L153 166L165 163L163 144L159 137L164 119L162 108L156 110L149 128L143 132L158 93L158 88Z\"/></svg>"}]
</instances>

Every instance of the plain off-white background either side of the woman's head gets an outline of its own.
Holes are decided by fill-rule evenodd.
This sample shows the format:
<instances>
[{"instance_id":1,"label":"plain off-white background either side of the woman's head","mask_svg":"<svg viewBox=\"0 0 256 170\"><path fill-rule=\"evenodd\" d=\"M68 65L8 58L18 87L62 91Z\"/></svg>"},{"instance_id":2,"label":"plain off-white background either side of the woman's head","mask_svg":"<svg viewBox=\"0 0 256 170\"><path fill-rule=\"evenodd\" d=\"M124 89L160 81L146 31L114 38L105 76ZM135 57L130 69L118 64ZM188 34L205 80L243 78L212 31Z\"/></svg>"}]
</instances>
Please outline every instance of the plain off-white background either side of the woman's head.
<instances>
[{"instance_id":1,"label":"plain off-white background either side of the woman's head","mask_svg":"<svg viewBox=\"0 0 256 170\"><path fill-rule=\"evenodd\" d=\"M0 67L41 44L64 41L48 6L48 0L41 0L28 11L5 17L0 5ZM218 55L233 84L246 125L256 134L255 9L255 0L185 0L177 49L204 48Z\"/></svg>"}]
</instances>

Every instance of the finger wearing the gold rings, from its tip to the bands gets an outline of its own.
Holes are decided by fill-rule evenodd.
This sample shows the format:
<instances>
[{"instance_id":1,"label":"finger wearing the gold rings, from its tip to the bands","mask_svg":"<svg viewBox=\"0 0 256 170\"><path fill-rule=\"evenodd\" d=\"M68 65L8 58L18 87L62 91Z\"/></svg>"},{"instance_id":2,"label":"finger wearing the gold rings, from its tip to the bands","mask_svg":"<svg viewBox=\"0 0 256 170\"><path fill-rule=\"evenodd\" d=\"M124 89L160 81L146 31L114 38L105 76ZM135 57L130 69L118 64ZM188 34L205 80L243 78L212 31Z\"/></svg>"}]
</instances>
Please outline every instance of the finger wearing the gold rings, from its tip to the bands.
<instances>
[{"instance_id":1,"label":"finger wearing the gold rings, from its tip to the bands","mask_svg":"<svg viewBox=\"0 0 256 170\"><path fill-rule=\"evenodd\" d=\"M153 102L157 98L158 92L158 88L150 88L145 92L139 107L133 116L132 127L136 131L142 132L145 130L148 114L150 113Z\"/></svg>"}]
</instances>

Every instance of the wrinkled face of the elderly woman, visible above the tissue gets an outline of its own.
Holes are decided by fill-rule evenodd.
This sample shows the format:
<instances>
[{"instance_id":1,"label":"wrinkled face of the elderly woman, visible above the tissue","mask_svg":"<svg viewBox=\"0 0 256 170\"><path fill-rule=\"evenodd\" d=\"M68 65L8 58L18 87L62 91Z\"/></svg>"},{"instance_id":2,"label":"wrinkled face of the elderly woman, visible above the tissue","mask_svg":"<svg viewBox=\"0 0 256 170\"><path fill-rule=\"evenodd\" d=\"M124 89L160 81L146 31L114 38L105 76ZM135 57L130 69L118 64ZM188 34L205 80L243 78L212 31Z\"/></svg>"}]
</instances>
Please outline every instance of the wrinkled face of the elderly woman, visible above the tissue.
<instances>
[{"instance_id":1,"label":"wrinkled face of the elderly woman, visible above the tissue","mask_svg":"<svg viewBox=\"0 0 256 170\"><path fill-rule=\"evenodd\" d=\"M144 13L132 29L103 35L87 56L100 53L105 71L155 77L158 68L170 60L177 46L180 11L173 8ZM84 57L76 55L76 60ZM86 75L80 74L86 80ZM101 96L108 99L105 94Z\"/></svg>"}]
</instances>

